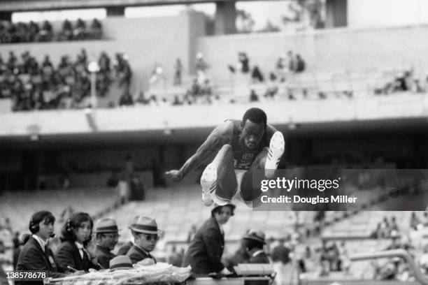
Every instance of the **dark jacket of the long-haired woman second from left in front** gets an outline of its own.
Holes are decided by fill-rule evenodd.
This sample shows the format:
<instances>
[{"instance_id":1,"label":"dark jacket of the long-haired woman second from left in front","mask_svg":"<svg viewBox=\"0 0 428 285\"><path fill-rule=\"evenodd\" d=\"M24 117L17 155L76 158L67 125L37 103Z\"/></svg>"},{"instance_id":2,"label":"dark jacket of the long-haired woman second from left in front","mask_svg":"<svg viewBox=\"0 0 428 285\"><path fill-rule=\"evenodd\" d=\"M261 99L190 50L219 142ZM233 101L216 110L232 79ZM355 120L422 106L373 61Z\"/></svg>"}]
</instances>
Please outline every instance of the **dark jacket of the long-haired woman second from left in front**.
<instances>
[{"instance_id":1,"label":"dark jacket of the long-haired woman second from left in front","mask_svg":"<svg viewBox=\"0 0 428 285\"><path fill-rule=\"evenodd\" d=\"M59 244L57 249L57 260L64 270L73 272L73 270L69 270L67 266L76 270L85 271L88 271L90 268L99 269L99 266L91 262L90 256L84 255L83 257L84 258L80 257L79 249L74 242L64 240L64 242Z\"/></svg>"}]
</instances>

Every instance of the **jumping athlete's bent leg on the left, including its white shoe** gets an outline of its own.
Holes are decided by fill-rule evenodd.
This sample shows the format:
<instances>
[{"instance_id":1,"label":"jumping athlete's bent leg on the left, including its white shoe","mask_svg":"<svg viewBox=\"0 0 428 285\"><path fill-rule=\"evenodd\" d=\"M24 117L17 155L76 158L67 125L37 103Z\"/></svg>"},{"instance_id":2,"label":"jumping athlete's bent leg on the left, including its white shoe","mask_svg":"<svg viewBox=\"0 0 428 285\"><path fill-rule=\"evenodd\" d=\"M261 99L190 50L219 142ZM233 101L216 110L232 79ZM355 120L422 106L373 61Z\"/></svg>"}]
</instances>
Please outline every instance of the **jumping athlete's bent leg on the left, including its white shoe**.
<instances>
[{"instance_id":1,"label":"jumping athlete's bent leg on the left, including its white shoe","mask_svg":"<svg viewBox=\"0 0 428 285\"><path fill-rule=\"evenodd\" d=\"M206 166L201 177L202 199L206 206L213 202L227 204L236 192L234 152L231 145L223 145L213 162Z\"/></svg>"}]
</instances>

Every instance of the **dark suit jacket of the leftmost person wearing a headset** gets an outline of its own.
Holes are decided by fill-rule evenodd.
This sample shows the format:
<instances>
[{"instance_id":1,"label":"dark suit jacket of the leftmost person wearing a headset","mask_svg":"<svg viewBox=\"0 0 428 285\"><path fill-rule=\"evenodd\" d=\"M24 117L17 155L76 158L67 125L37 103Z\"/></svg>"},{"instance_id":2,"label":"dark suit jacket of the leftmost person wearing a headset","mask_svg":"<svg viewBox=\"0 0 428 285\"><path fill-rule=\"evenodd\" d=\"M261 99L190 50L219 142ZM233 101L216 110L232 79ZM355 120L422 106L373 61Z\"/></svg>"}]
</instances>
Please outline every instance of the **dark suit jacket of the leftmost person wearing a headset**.
<instances>
[{"instance_id":1,"label":"dark suit jacket of the leftmost person wearing a headset","mask_svg":"<svg viewBox=\"0 0 428 285\"><path fill-rule=\"evenodd\" d=\"M60 278L66 276L59 267L51 249L43 251L40 244L33 237L29 238L20 252L17 260L16 270L45 270L48 277ZM18 284L43 284L43 281L17 281Z\"/></svg>"}]
</instances>

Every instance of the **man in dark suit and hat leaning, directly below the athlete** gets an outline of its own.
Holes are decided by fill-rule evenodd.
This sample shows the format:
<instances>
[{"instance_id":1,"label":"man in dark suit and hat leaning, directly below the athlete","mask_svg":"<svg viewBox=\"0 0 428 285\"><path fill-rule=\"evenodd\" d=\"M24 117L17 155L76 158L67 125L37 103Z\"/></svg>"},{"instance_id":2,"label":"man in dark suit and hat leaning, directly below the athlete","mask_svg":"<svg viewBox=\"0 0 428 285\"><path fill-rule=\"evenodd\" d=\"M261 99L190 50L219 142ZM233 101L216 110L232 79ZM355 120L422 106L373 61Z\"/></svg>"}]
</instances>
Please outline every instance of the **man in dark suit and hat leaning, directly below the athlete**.
<instances>
[{"instance_id":1,"label":"man in dark suit and hat leaning, directly below the athlete","mask_svg":"<svg viewBox=\"0 0 428 285\"><path fill-rule=\"evenodd\" d=\"M211 210L211 218L206 220L194 235L185 253L183 267L190 265L195 277L221 272L231 272L221 262L224 249L224 231L222 226L234 215L235 205L215 205Z\"/></svg>"}]
</instances>

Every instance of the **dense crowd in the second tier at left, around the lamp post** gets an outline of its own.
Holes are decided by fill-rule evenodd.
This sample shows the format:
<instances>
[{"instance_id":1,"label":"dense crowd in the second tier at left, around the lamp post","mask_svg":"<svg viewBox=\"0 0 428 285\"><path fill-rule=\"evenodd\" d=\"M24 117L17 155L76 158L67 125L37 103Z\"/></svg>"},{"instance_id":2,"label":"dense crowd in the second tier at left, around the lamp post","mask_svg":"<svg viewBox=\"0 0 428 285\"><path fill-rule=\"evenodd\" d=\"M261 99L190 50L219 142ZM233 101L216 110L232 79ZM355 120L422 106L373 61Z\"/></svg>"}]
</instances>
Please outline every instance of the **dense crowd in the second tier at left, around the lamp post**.
<instances>
[{"instance_id":1,"label":"dense crowd in the second tier at left, around the lamp post","mask_svg":"<svg viewBox=\"0 0 428 285\"><path fill-rule=\"evenodd\" d=\"M126 54L116 54L113 64L102 52L98 59L97 95L105 96L110 83L129 89L131 67ZM64 55L57 66L49 55L39 63L28 51L19 60L13 51L8 59L0 54L0 98L11 98L13 110L44 110L56 108L87 108L90 95L90 72L87 53L83 49L73 61Z\"/></svg>"}]
</instances>

